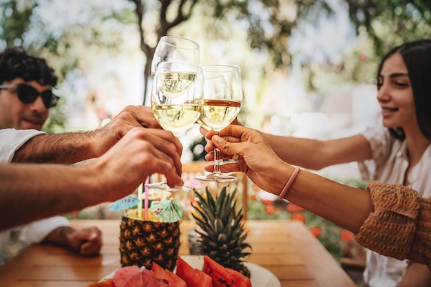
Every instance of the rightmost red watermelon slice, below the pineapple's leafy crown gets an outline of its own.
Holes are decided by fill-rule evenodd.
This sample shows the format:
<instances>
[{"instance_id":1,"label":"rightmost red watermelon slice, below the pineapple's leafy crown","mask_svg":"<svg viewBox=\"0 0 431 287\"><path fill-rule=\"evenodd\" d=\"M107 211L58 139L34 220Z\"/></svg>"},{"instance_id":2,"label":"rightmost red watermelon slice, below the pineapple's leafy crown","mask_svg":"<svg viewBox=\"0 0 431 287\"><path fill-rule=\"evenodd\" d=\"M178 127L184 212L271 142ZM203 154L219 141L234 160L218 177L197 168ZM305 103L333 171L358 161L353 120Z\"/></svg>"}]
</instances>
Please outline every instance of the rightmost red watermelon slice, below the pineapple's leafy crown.
<instances>
[{"instance_id":1,"label":"rightmost red watermelon slice, below the pineapple's leafy crown","mask_svg":"<svg viewBox=\"0 0 431 287\"><path fill-rule=\"evenodd\" d=\"M204 273L213 279L213 287L251 287L250 278L226 268L204 255Z\"/></svg>"}]
</instances>

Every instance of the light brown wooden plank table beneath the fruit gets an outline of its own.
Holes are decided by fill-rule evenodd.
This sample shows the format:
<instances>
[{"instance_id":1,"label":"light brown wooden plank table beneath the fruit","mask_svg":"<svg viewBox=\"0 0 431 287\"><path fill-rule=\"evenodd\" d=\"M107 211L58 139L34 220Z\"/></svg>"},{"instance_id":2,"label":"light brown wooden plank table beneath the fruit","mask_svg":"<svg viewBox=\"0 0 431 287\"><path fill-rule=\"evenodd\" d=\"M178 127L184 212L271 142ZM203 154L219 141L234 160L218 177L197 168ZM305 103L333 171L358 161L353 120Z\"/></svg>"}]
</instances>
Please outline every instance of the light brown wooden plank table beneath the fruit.
<instances>
[{"instance_id":1,"label":"light brown wooden plank table beneath the fruit","mask_svg":"<svg viewBox=\"0 0 431 287\"><path fill-rule=\"evenodd\" d=\"M72 226L96 225L103 231L97 257L81 257L64 248L34 245L0 267L0 286L84 287L120 267L119 220L72 220ZM181 224L180 254L189 253L187 232L194 222ZM339 264L306 227L297 221L250 220L247 242L253 247L249 262L270 270L282 287L355 287ZM259 286L254 286L259 287Z\"/></svg>"}]
</instances>

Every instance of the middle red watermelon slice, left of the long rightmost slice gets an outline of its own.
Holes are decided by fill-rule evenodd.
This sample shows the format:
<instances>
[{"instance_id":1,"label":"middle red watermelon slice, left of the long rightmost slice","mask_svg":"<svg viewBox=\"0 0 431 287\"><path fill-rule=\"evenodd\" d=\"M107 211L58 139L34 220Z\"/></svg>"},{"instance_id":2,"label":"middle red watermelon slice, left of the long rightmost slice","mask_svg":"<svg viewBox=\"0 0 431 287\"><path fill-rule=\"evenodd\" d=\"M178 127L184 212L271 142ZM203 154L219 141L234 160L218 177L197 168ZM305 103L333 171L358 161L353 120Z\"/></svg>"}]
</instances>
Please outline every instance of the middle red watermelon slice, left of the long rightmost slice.
<instances>
[{"instance_id":1,"label":"middle red watermelon slice, left of the long rightmost slice","mask_svg":"<svg viewBox=\"0 0 431 287\"><path fill-rule=\"evenodd\" d=\"M209 275L191 267L181 257L176 263L176 275L186 282L187 287L213 287L213 279Z\"/></svg>"}]
</instances>

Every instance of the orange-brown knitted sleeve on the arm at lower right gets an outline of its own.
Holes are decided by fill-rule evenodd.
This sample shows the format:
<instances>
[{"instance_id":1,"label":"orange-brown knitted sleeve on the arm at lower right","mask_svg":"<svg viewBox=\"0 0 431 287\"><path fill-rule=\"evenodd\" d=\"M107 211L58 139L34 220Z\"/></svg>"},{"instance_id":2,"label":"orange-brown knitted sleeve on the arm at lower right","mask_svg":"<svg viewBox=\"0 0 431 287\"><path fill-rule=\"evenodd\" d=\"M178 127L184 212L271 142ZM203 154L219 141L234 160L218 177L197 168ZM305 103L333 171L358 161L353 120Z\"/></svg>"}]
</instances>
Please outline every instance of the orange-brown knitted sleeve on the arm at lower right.
<instances>
[{"instance_id":1,"label":"orange-brown knitted sleeve on the arm at lower right","mask_svg":"<svg viewBox=\"0 0 431 287\"><path fill-rule=\"evenodd\" d=\"M355 240L382 255L406 259L416 231L419 195L410 187L381 182L370 182L366 190L375 211L361 226Z\"/></svg>"}]
</instances>

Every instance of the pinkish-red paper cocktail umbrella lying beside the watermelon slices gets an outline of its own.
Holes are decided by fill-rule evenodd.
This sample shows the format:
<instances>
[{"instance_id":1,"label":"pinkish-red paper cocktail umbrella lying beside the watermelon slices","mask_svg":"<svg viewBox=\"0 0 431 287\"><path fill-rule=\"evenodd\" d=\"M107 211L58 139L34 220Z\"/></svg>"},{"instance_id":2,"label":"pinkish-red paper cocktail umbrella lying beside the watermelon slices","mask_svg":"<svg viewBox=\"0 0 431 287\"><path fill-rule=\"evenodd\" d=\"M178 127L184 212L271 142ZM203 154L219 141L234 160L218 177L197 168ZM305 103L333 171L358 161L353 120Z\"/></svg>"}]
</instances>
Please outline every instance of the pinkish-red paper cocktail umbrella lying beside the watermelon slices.
<instances>
[{"instance_id":1,"label":"pinkish-red paper cocktail umbrella lying beside the watermelon slices","mask_svg":"<svg viewBox=\"0 0 431 287\"><path fill-rule=\"evenodd\" d=\"M116 287L166 287L166 283L158 279L153 271L136 265L116 270L114 284Z\"/></svg>"}]
</instances>

